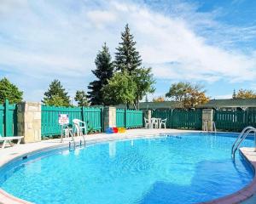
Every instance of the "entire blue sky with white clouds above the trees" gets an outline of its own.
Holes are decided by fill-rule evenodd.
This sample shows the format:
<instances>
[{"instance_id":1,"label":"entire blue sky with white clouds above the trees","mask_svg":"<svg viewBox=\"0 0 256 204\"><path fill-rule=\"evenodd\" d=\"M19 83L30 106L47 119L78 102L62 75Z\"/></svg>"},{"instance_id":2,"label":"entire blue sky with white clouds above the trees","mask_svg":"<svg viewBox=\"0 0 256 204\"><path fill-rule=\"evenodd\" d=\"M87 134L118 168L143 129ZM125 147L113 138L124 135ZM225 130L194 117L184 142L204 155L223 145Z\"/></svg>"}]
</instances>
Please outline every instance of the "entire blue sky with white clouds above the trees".
<instances>
[{"instance_id":1,"label":"entire blue sky with white clouds above the trees","mask_svg":"<svg viewBox=\"0 0 256 204\"><path fill-rule=\"evenodd\" d=\"M26 100L42 99L55 78L73 96L94 80L103 42L113 55L129 23L143 65L153 68L150 99L179 81L230 98L234 88L256 90L255 10L250 0L2 0L0 77Z\"/></svg>"}]
</instances>

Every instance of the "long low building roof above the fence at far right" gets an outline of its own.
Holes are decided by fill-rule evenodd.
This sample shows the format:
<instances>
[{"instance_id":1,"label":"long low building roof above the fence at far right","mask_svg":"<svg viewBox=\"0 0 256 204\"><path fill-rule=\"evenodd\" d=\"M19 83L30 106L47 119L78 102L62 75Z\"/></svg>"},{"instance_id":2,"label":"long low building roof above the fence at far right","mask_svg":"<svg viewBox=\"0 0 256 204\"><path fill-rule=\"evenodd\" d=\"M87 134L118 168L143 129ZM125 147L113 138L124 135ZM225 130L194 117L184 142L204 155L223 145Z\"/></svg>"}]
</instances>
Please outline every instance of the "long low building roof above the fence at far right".
<instances>
[{"instance_id":1,"label":"long low building roof above the fence at far right","mask_svg":"<svg viewBox=\"0 0 256 204\"><path fill-rule=\"evenodd\" d=\"M198 108L248 108L256 107L256 99L211 99L205 105Z\"/></svg>"}]
</instances>

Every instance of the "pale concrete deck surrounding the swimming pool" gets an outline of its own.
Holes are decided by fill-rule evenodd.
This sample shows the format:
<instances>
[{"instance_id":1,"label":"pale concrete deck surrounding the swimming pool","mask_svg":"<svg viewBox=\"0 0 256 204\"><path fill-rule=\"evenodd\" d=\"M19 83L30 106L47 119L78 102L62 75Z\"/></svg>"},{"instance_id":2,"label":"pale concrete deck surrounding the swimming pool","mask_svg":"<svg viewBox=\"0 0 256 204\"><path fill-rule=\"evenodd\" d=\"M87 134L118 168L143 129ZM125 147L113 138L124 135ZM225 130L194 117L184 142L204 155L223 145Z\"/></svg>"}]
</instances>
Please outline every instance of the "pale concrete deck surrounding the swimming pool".
<instances>
[{"instance_id":1,"label":"pale concrete deck surrounding the swimming pool","mask_svg":"<svg viewBox=\"0 0 256 204\"><path fill-rule=\"evenodd\" d=\"M127 130L126 133L96 133L85 136L86 143L100 143L108 142L116 139L135 139L135 138L144 138L144 137L153 137L160 133L196 133L201 131L189 131L189 130L177 130L177 129L131 129ZM79 141L82 137L75 137L76 142ZM29 144L20 144L15 145L10 148L0 150L0 167L16 159L22 159L24 156L29 156L33 153L36 153L41 150L50 150L60 147L67 147L70 139L64 139L61 143L60 139L47 139L38 143L29 143ZM241 148L241 154L245 156L247 161L249 161L254 170L256 169L256 152L253 151L253 148ZM13 195L9 195L4 190L0 189L0 203L1 204L18 204L18 203L31 203L28 201L21 200L16 198ZM253 181L248 184L242 190L232 194L227 195L222 198L213 201L203 202L207 204L255 204L256 203L256 178L254 175Z\"/></svg>"}]
</instances>

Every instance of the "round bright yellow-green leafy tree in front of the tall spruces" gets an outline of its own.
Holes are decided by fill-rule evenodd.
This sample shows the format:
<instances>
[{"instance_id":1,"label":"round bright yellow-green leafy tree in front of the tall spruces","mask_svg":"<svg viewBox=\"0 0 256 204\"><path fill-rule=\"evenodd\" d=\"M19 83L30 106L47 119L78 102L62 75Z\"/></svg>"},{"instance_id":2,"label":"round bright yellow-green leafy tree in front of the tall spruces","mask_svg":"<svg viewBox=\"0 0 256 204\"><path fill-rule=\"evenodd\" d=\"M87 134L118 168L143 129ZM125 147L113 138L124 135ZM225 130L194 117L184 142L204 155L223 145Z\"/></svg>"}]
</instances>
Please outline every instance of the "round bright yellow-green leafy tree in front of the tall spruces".
<instances>
[{"instance_id":1,"label":"round bright yellow-green leafy tree in front of the tall spruces","mask_svg":"<svg viewBox=\"0 0 256 204\"><path fill-rule=\"evenodd\" d=\"M131 104L136 99L137 84L126 71L117 72L102 88L104 100L109 105Z\"/></svg>"}]
</instances>

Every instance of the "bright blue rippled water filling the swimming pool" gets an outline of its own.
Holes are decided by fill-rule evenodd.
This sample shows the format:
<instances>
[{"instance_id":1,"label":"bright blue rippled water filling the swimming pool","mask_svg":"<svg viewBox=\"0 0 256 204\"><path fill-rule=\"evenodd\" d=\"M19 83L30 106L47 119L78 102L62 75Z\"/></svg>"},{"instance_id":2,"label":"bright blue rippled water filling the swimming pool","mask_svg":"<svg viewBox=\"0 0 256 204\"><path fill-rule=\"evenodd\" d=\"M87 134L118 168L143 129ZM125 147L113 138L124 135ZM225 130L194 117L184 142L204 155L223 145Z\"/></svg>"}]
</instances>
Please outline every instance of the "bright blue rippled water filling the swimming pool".
<instances>
[{"instance_id":1,"label":"bright blue rippled water filling the swimming pool","mask_svg":"<svg viewBox=\"0 0 256 204\"><path fill-rule=\"evenodd\" d=\"M233 135L236 136L237 135ZM0 187L27 201L166 204L209 201L240 190L253 170L230 134L183 133L56 150L0 169ZM253 146L247 139L243 146Z\"/></svg>"}]
</instances>

